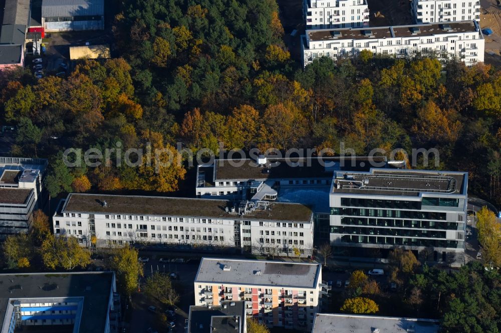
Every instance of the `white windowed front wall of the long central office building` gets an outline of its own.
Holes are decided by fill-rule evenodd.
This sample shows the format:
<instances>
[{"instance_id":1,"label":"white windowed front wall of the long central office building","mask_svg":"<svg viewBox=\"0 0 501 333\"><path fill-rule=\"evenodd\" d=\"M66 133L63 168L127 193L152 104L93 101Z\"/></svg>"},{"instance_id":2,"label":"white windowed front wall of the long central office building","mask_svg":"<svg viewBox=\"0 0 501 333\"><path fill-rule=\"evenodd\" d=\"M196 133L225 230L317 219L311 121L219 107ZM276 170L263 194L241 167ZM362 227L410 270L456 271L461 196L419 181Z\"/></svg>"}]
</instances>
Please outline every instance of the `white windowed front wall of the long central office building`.
<instances>
[{"instance_id":1,"label":"white windowed front wall of the long central office building","mask_svg":"<svg viewBox=\"0 0 501 333\"><path fill-rule=\"evenodd\" d=\"M299 223L252 220L245 216L228 219L65 212L53 216L53 227L56 235L75 236L82 246L89 246L91 235L96 236L98 247L148 242L191 247L246 246L255 253L287 254L295 246L310 255L313 246L313 217L310 222Z\"/></svg>"}]
</instances>

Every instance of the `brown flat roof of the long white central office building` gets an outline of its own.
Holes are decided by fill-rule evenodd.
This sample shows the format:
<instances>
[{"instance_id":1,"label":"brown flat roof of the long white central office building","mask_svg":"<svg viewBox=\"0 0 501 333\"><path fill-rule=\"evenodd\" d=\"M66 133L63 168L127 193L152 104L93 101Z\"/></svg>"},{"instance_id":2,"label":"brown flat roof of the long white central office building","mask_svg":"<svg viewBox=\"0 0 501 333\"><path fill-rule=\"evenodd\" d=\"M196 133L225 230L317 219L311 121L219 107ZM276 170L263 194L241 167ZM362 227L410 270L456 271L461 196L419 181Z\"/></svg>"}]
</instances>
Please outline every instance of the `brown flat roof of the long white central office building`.
<instances>
[{"instance_id":1,"label":"brown flat roof of the long white central office building","mask_svg":"<svg viewBox=\"0 0 501 333\"><path fill-rule=\"evenodd\" d=\"M102 202L106 201L104 207ZM310 207L300 203L270 203L271 210L255 210L245 215L226 212L228 200L166 196L107 195L70 193L62 212L91 212L131 215L165 215L232 219L260 219L309 222Z\"/></svg>"}]
</instances>

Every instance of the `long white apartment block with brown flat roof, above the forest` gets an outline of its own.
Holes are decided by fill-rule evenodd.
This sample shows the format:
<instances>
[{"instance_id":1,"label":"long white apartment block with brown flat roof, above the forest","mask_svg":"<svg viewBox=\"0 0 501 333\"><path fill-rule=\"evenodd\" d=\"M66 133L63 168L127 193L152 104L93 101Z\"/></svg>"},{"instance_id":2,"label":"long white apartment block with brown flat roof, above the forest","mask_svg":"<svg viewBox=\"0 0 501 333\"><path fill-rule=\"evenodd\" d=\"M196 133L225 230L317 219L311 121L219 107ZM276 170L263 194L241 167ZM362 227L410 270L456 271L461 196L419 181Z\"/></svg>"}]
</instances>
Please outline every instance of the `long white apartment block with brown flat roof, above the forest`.
<instances>
[{"instance_id":1,"label":"long white apartment block with brown flat roof, above the forest","mask_svg":"<svg viewBox=\"0 0 501 333\"><path fill-rule=\"evenodd\" d=\"M485 40L477 21L371 27L366 29L307 30L302 36L303 63L328 56L354 56L362 50L392 57L416 54L455 58L470 66L483 62Z\"/></svg>"}]
</instances>

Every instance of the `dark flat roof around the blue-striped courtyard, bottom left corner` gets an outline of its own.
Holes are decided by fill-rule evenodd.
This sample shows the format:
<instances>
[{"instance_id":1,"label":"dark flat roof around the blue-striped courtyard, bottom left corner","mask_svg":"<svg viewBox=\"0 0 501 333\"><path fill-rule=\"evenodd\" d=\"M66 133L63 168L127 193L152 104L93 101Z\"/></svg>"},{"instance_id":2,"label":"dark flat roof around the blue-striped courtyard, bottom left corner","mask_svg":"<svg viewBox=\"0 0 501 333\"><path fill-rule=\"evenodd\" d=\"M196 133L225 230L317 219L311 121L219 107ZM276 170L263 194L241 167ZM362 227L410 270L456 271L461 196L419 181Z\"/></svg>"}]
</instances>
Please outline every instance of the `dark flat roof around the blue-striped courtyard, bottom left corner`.
<instances>
[{"instance_id":1,"label":"dark flat roof around the blue-striped courtyard, bottom left corner","mask_svg":"<svg viewBox=\"0 0 501 333\"><path fill-rule=\"evenodd\" d=\"M103 332L113 272L0 274L0 327L9 299L84 297L79 333Z\"/></svg>"}]
</instances>

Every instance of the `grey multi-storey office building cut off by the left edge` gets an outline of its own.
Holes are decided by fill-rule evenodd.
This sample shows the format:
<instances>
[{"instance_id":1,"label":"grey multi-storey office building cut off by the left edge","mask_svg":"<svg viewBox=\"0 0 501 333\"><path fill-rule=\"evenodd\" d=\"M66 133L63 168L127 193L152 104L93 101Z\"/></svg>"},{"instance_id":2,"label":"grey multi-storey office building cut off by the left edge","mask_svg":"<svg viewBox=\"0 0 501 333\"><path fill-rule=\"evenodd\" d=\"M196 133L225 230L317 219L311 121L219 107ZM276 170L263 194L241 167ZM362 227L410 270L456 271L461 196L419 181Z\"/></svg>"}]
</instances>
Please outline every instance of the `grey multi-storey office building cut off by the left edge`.
<instances>
[{"instance_id":1,"label":"grey multi-storey office building cut off by the left edge","mask_svg":"<svg viewBox=\"0 0 501 333\"><path fill-rule=\"evenodd\" d=\"M47 159L0 157L0 238L29 231L33 211L47 201L46 168Z\"/></svg>"}]
</instances>

